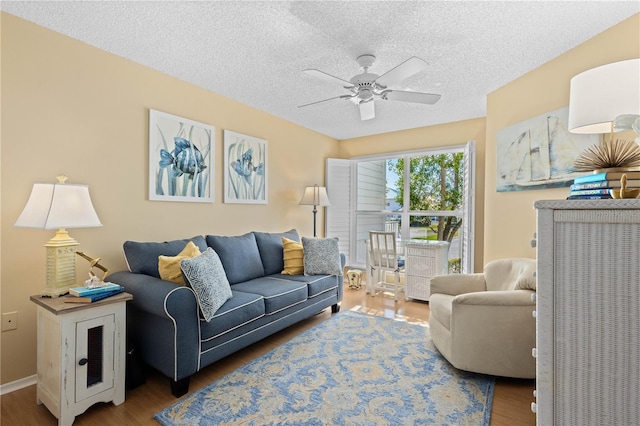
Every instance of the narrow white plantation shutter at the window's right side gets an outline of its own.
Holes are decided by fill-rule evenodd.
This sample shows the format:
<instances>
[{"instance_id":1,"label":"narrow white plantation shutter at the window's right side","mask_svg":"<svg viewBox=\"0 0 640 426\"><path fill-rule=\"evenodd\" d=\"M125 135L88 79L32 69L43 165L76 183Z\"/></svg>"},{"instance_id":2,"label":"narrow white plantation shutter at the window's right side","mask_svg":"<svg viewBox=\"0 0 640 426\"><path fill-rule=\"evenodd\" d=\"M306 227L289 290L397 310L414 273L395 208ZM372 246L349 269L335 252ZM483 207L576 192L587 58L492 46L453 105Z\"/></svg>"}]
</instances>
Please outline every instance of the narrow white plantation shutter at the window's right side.
<instances>
[{"instance_id":1,"label":"narrow white plantation shutter at the window's right side","mask_svg":"<svg viewBox=\"0 0 640 426\"><path fill-rule=\"evenodd\" d=\"M476 142L464 147L464 200L462 201L462 273L473 273L473 223L476 201Z\"/></svg>"}]
</instances>

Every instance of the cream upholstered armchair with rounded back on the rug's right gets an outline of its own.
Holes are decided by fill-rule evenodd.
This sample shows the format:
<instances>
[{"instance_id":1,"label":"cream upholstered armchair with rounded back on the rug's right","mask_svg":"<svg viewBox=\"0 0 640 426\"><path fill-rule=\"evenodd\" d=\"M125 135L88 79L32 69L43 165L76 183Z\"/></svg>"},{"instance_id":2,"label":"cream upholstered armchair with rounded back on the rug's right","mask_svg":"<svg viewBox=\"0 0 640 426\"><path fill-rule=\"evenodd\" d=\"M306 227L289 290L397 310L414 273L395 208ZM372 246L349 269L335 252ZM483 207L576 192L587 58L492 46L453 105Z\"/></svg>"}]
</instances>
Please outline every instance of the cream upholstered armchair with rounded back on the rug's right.
<instances>
[{"instance_id":1,"label":"cream upholstered armchair with rounded back on the rug's right","mask_svg":"<svg viewBox=\"0 0 640 426\"><path fill-rule=\"evenodd\" d=\"M454 367L536 376L535 271L534 259L503 259L488 263L484 273L431 279L431 338Z\"/></svg>"}]
</instances>

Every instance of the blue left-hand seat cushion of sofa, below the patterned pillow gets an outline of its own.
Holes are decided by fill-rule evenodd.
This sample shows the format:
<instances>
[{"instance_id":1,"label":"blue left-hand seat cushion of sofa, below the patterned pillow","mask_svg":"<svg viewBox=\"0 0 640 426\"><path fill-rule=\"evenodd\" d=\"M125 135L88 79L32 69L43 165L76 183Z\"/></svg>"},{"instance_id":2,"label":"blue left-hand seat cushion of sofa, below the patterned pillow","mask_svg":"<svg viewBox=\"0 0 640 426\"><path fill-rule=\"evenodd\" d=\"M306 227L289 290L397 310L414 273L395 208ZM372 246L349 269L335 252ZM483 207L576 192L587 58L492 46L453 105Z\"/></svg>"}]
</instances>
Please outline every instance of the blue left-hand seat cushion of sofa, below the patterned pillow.
<instances>
[{"instance_id":1,"label":"blue left-hand seat cushion of sofa, below the patterned pillow","mask_svg":"<svg viewBox=\"0 0 640 426\"><path fill-rule=\"evenodd\" d=\"M233 297L218 309L211 321L200 324L202 341L215 339L264 316L264 297L232 290Z\"/></svg>"}]
</instances>

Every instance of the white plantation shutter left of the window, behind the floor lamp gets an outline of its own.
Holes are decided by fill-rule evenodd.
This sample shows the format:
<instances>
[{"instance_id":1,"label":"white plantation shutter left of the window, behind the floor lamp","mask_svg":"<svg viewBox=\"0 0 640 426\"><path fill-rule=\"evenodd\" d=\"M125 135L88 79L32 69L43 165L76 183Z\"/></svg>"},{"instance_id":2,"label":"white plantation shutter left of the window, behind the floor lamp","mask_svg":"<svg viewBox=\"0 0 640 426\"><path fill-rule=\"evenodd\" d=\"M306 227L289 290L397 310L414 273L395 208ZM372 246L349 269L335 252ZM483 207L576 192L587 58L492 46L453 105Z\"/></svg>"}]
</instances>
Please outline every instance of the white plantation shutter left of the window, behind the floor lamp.
<instances>
[{"instance_id":1,"label":"white plantation shutter left of the window, behind the floor lamp","mask_svg":"<svg viewBox=\"0 0 640 426\"><path fill-rule=\"evenodd\" d=\"M353 167L354 162L351 160L328 158L325 179L331 203L325 210L325 234L327 237L338 238L340 253L346 256L347 265L352 253Z\"/></svg>"}]
</instances>

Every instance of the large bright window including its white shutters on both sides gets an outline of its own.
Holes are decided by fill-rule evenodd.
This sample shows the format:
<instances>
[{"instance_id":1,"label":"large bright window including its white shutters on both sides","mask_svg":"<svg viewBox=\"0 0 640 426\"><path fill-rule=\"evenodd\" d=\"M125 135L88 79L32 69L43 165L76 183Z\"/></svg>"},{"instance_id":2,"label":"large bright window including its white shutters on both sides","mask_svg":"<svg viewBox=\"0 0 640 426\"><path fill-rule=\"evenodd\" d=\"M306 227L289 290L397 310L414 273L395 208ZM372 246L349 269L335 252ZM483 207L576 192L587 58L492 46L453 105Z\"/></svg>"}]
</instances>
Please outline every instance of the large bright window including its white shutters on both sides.
<instances>
[{"instance_id":1,"label":"large bright window including its white shutters on both sides","mask_svg":"<svg viewBox=\"0 0 640 426\"><path fill-rule=\"evenodd\" d=\"M473 142L438 150L337 160L327 163L327 236L349 241L341 247L352 266L366 261L365 240L371 230L397 232L402 240L448 241L451 272L473 269ZM348 183L345 181L348 179ZM334 189L348 205L334 205ZM344 214L349 209L349 214ZM349 225L337 226L337 212ZM341 230L341 231L338 231ZM347 233L344 233L348 230ZM338 232L336 232L338 231ZM346 248L346 251L345 251Z\"/></svg>"}]
</instances>

